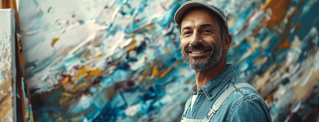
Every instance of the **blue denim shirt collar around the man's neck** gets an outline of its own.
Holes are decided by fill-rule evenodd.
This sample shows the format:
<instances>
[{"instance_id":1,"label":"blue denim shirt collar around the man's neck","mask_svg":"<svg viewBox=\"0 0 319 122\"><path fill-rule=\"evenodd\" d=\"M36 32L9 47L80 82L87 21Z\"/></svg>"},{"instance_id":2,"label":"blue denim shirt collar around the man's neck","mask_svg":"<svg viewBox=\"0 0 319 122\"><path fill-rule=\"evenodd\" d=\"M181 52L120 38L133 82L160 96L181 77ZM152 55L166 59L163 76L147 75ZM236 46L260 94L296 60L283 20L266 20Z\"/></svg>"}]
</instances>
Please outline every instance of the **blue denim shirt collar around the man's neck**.
<instances>
[{"instance_id":1,"label":"blue denim shirt collar around the man's neck","mask_svg":"<svg viewBox=\"0 0 319 122\"><path fill-rule=\"evenodd\" d=\"M226 65L225 69L222 70L218 75L213 77L211 80L208 81L207 84L203 85L201 89L197 89L197 85L195 84L192 87L192 94L193 95L203 95L212 100L215 98L217 93L221 90L222 87L226 85L226 83L233 78L235 75L235 70L233 65L228 64Z\"/></svg>"}]
</instances>

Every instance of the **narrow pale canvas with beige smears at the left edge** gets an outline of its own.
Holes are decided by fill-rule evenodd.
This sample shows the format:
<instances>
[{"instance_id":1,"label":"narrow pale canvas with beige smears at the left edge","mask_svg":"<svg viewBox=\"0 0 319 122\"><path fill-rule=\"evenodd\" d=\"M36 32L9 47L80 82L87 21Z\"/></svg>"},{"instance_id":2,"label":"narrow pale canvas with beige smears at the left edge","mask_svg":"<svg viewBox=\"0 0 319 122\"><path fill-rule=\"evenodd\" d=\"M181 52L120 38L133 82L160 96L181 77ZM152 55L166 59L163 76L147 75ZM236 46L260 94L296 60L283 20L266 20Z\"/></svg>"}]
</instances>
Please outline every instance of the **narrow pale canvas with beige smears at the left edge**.
<instances>
[{"instance_id":1,"label":"narrow pale canvas with beige smears at the left edge","mask_svg":"<svg viewBox=\"0 0 319 122\"><path fill-rule=\"evenodd\" d=\"M0 16L0 121L16 121L14 11L0 9Z\"/></svg>"}]
</instances>

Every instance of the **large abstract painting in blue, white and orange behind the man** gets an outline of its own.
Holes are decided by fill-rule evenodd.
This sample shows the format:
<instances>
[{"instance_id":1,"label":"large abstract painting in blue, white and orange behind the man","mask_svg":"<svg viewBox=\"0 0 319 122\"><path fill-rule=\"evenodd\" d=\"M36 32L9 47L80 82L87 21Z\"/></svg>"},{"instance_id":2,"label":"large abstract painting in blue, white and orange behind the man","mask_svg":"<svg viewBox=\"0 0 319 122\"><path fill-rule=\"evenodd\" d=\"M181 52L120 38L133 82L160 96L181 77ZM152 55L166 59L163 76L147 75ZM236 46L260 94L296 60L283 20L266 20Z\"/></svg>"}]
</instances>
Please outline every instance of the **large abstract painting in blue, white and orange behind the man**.
<instances>
[{"instance_id":1,"label":"large abstract painting in blue, white and orange behind the man","mask_svg":"<svg viewBox=\"0 0 319 122\"><path fill-rule=\"evenodd\" d=\"M183 2L21 1L35 121L178 121L195 84L172 20ZM213 2L233 36L229 63L273 121L317 120L319 3Z\"/></svg>"}]
</instances>

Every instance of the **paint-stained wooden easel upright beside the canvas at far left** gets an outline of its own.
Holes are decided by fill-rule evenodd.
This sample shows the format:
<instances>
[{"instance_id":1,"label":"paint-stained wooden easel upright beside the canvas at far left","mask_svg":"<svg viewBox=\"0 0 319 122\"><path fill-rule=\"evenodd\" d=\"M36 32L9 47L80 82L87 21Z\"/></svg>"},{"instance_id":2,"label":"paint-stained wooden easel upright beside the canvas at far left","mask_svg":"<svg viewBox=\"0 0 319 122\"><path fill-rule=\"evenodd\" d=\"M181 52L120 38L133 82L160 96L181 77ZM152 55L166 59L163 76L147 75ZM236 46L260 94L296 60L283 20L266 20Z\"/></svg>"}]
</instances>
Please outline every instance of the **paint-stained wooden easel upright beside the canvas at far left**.
<instances>
[{"instance_id":1,"label":"paint-stained wooden easel upright beside the canvas at far left","mask_svg":"<svg viewBox=\"0 0 319 122\"><path fill-rule=\"evenodd\" d=\"M23 58L23 51L22 51L22 43L21 43L21 33L20 33L20 24L19 24L19 16L17 12L16 0L0 0L0 9L13 9L14 10L14 17L15 17L15 24L16 24L16 33L15 33L15 58L16 58L16 69L17 69L17 76L16 82L20 91L20 98L21 98L21 106L22 106L22 114L23 114L23 121L34 121L33 120L33 113L26 113L27 106L25 105L26 101L30 101L30 94L28 89L28 82L25 77L24 71L24 58ZM23 79L23 80L22 80ZM23 83L25 87L23 87ZM27 96L27 97L25 97ZM28 98L28 100L25 100ZM30 105L30 102L27 104ZM27 118L29 117L29 118Z\"/></svg>"}]
</instances>

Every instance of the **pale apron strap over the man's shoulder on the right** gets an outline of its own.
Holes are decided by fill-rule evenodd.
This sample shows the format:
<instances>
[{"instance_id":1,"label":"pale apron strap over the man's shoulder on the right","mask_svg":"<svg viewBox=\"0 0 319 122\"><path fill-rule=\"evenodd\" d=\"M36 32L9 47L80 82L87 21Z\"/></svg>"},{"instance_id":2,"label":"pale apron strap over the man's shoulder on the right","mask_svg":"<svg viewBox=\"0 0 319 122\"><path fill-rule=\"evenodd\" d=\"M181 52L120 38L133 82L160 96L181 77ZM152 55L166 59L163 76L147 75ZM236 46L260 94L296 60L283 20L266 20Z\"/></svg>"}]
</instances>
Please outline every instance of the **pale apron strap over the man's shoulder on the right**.
<instances>
[{"instance_id":1,"label":"pale apron strap over the man's shoulder on the right","mask_svg":"<svg viewBox=\"0 0 319 122\"><path fill-rule=\"evenodd\" d=\"M235 86L234 86L235 85ZM240 82L234 84L233 87L229 87L224 93L221 94L221 96L215 101L213 104L212 108L209 109L209 112L207 116L205 116L204 121L210 121L210 119L213 117L215 112L220 108L222 103L229 97L231 93L233 93L236 89L238 88L251 88L256 91L250 84L245 83L245 82ZM257 92L258 93L258 92ZM258 94L259 95L259 94Z\"/></svg>"}]
</instances>

